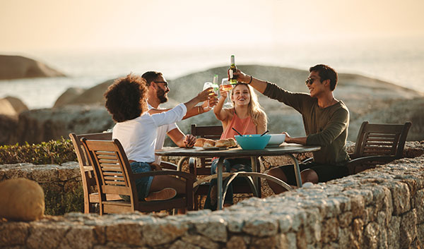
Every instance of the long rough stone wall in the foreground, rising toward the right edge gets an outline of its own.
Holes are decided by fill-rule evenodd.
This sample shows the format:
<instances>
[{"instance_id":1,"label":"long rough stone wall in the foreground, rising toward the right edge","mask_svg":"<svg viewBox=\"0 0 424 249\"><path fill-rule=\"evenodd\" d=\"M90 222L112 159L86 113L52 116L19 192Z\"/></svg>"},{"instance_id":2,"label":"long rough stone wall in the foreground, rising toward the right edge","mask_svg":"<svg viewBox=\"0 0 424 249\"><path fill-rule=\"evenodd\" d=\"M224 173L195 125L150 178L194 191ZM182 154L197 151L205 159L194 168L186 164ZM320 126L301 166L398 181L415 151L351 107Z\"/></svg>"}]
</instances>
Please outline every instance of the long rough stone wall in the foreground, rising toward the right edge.
<instances>
[{"instance_id":1,"label":"long rough stone wall in the foreground, rising toward the right edge","mask_svg":"<svg viewBox=\"0 0 424 249\"><path fill-rule=\"evenodd\" d=\"M186 215L65 214L0 223L8 248L423 248L424 156Z\"/></svg>"}]
</instances>

